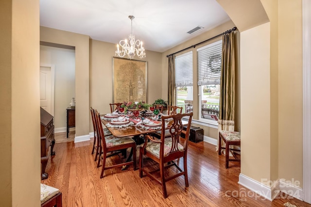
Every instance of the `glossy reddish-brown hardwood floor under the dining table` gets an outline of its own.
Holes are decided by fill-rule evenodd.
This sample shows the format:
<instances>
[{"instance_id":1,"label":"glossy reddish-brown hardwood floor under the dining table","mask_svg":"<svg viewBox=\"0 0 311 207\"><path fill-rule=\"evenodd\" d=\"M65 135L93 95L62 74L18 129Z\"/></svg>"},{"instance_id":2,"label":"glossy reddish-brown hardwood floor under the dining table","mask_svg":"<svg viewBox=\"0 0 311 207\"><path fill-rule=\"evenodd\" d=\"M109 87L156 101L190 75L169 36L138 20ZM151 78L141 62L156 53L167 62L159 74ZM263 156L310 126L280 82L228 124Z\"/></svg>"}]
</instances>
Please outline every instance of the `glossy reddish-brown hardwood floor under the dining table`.
<instances>
[{"instance_id":1,"label":"glossy reddish-brown hardwood floor under the dining table","mask_svg":"<svg viewBox=\"0 0 311 207\"><path fill-rule=\"evenodd\" d=\"M57 136L63 136L60 134ZM49 178L42 183L60 189L63 207L283 207L287 202L311 207L286 194L271 202L247 190L238 184L240 163L229 162L225 169L225 156L218 156L215 146L205 142L190 143L189 187L185 187L183 176L173 179L167 183L168 198L164 199L161 186L149 177L140 178L132 166L126 171L107 170L101 179L101 167L96 167L91 155L92 142L54 146L56 155L46 168ZM120 159L115 156L107 161L110 164ZM151 160L144 164L154 165Z\"/></svg>"}]
</instances>

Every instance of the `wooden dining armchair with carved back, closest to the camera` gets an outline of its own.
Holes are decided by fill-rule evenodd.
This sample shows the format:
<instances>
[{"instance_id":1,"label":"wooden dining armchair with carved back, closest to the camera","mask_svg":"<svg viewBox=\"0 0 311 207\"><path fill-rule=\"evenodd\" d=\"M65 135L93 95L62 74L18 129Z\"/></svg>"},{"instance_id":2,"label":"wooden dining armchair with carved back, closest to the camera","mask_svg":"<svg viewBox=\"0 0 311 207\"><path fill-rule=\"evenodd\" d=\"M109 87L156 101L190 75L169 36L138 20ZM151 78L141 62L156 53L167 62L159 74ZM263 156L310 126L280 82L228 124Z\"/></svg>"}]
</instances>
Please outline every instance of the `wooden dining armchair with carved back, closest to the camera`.
<instances>
[{"instance_id":1,"label":"wooden dining armchair with carved back, closest to the camera","mask_svg":"<svg viewBox=\"0 0 311 207\"><path fill-rule=\"evenodd\" d=\"M166 191L166 182L170 181L178 176L184 175L185 177L185 185L189 186L188 182L188 173L187 173L187 149L189 142L189 134L190 134L190 125L192 120L193 113L177 113L175 115L170 116L162 116L162 134L161 138L155 139L150 135L145 136L145 143L143 146L139 148L139 176L143 177L143 173L147 176L155 179L156 182L161 184L163 196L167 198ZM183 130L183 124L181 119L185 116L189 116L189 122L187 126L187 131ZM165 121L173 118L173 124L170 128L170 138L165 138ZM180 134L185 134L185 141L182 145L180 143ZM150 142L148 142L150 141ZM143 155L153 159L155 162L159 164L159 169L148 171L147 167L143 167ZM182 170L173 160L183 158L184 170ZM174 175L173 172L176 172L175 169L169 171L170 173L165 173L164 171L169 167L175 167L179 171ZM160 173L160 178L158 179L156 172ZM157 174L158 175L158 174Z\"/></svg>"}]
</instances>

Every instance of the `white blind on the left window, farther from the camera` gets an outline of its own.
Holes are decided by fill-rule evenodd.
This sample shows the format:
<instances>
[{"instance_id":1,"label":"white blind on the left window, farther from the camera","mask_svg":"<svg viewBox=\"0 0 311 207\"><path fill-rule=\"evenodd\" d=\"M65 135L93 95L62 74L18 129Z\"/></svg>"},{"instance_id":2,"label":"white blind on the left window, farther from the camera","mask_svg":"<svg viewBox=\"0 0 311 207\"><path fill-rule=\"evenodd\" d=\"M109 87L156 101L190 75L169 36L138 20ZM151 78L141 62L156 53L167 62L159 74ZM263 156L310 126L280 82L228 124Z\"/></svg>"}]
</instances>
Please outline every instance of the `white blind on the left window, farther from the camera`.
<instances>
[{"instance_id":1,"label":"white blind on the left window, farther from the camera","mask_svg":"<svg viewBox=\"0 0 311 207\"><path fill-rule=\"evenodd\" d=\"M193 85L192 51L175 57L175 87Z\"/></svg>"}]
</instances>

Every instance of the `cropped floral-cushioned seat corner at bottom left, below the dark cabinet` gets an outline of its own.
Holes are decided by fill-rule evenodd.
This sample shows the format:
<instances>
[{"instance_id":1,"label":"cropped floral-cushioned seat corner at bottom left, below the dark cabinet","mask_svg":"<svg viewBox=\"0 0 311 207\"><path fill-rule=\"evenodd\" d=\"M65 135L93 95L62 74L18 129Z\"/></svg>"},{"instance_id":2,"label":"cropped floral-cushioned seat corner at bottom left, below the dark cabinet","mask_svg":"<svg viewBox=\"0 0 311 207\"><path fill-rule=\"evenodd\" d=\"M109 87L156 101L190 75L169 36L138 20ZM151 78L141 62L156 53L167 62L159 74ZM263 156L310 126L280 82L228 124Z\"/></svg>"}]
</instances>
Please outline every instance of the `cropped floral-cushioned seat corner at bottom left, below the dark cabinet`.
<instances>
[{"instance_id":1,"label":"cropped floral-cushioned seat corner at bottom left, below the dark cabinet","mask_svg":"<svg viewBox=\"0 0 311 207\"><path fill-rule=\"evenodd\" d=\"M62 207L62 193L41 183L41 207Z\"/></svg>"}]
</instances>

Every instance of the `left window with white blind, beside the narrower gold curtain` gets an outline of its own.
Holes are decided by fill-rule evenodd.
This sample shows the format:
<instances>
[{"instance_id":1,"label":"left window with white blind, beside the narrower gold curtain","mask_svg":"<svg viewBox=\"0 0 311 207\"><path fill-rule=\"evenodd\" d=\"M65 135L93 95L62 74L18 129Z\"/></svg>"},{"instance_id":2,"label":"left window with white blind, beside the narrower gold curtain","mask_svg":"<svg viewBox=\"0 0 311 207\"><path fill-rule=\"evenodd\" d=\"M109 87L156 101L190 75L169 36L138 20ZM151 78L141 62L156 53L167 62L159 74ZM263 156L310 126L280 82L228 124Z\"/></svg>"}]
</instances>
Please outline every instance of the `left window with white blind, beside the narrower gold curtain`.
<instances>
[{"instance_id":1,"label":"left window with white blind, beside the narrower gold curtain","mask_svg":"<svg viewBox=\"0 0 311 207\"><path fill-rule=\"evenodd\" d=\"M193 102L193 64L192 51L175 57L176 105L183 112L191 112Z\"/></svg>"}]
</instances>

